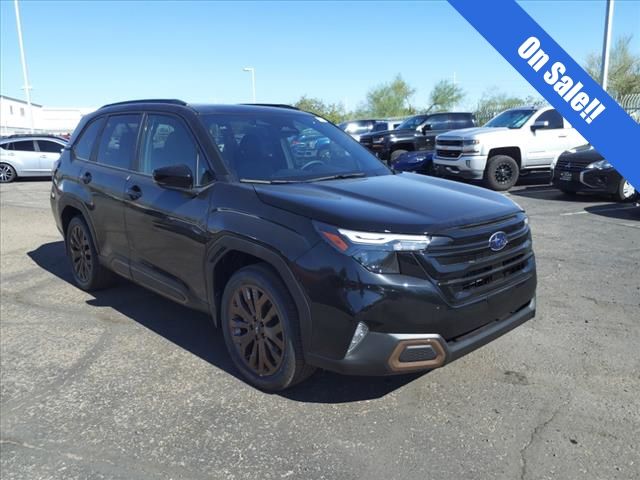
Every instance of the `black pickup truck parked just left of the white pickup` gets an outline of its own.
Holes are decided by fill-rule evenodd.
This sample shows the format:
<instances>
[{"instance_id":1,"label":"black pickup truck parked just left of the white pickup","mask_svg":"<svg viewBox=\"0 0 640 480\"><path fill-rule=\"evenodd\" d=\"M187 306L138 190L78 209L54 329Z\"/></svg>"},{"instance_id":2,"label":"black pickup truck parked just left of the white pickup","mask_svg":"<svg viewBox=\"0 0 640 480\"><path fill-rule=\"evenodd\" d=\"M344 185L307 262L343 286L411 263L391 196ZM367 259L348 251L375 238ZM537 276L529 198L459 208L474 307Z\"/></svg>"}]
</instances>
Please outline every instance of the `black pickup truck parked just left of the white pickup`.
<instances>
[{"instance_id":1,"label":"black pickup truck parked just left of the white pickup","mask_svg":"<svg viewBox=\"0 0 640 480\"><path fill-rule=\"evenodd\" d=\"M433 150L439 133L475 125L472 113L415 115L394 130L360 135L360 143L381 160L393 163L406 152Z\"/></svg>"}]
</instances>

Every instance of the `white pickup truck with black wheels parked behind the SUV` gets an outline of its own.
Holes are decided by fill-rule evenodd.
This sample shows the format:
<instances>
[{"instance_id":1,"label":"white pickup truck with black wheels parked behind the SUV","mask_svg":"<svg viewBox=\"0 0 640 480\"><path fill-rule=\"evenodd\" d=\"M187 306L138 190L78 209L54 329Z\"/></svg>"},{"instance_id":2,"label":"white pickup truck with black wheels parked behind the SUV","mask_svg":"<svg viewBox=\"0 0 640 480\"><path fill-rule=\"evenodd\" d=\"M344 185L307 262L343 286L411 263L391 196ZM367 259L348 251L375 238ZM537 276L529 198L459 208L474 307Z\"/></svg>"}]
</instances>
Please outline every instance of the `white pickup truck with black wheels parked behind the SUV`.
<instances>
[{"instance_id":1,"label":"white pickup truck with black wheels parked behind the SUV","mask_svg":"<svg viewBox=\"0 0 640 480\"><path fill-rule=\"evenodd\" d=\"M483 127L436 137L437 175L483 180L492 190L509 190L518 177L549 170L558 156L587 141L552 107L512 108Z\"/></svg>"}]
</instances>

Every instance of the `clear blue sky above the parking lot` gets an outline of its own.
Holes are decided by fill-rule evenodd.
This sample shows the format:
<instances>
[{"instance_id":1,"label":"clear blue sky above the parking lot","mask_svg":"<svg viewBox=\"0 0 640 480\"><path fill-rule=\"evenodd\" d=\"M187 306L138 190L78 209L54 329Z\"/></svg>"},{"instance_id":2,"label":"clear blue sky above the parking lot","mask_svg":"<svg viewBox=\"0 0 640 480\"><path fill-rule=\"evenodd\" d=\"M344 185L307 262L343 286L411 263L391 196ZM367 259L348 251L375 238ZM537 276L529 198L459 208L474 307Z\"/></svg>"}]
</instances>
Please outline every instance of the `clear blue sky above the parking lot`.
<instances>
[{"instance_id":1,"label":"clear blue sky above the parking lot","mask_svg":"<svg viewBox=\"0 0 640 480\"><path fill-rule=\"evenodd\" d=\"M487 8L491 8L487 0ZM523 8L579 63L600 51L604 0L524 1ZM97 107L131 98L290 103L303 94L355 108L397 73L428 103L453 78L472 106L487 90L535 95L448 3L20 2L32 99ZM496 12L499 14L499 12ZM635 33L640 1L616 1L613 38ZM0 91L23 98L13 1L0 0Z\"/></svg>"}]
</instances>

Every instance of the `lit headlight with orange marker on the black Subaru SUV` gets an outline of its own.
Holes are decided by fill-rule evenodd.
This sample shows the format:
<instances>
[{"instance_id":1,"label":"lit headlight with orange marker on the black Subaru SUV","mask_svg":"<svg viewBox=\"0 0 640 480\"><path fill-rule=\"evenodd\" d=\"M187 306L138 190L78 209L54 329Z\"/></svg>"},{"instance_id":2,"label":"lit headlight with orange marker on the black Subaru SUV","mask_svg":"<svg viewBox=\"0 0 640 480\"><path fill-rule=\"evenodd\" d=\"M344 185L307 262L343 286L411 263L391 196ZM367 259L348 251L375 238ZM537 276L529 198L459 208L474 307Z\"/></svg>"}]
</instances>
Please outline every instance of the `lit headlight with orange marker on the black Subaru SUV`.
<instances>
[{"instance_id":1,"label":"lit headlight with orange marker on the black Subaru SUV","mask_svg":"<svg viewBox=\"0 0 640 480\"><path fill-rule=\"evenodd\" d=\"M426 250L433 237L395 233L357 232L313 222L320 236L374 273L400 273L397 252Z\"/></svg>"}]
</instances>

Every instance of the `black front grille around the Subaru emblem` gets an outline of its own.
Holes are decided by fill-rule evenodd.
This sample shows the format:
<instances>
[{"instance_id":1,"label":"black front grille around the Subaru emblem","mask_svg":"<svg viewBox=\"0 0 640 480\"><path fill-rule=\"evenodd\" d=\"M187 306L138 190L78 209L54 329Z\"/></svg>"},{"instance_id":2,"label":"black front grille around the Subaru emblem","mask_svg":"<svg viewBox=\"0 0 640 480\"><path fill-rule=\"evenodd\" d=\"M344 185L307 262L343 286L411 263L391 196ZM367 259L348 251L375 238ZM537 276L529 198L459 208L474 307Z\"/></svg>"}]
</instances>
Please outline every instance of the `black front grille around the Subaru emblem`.
<instances>
[{"instance_id":1,"label":"black front grille around the Subaru emblem","mask_svg":"<svg viewBox=\"0 0 640 480\"><path fill-rule=\"evenodd\" d=\"M494 252L489 237L507 234L506 247ZM502 290L530 275L531 233L524 214L444 232L450 240L417 255L428 276L451 303L463 303Z\"/></svg>"}]
</instances>

